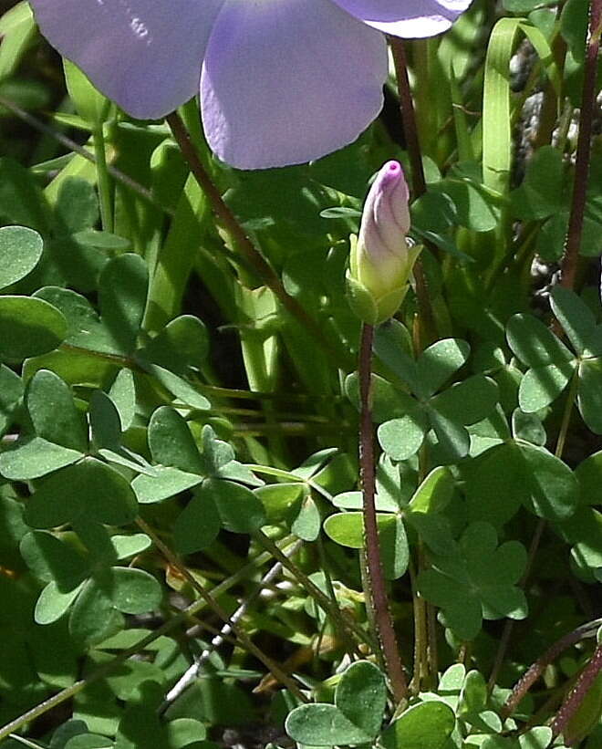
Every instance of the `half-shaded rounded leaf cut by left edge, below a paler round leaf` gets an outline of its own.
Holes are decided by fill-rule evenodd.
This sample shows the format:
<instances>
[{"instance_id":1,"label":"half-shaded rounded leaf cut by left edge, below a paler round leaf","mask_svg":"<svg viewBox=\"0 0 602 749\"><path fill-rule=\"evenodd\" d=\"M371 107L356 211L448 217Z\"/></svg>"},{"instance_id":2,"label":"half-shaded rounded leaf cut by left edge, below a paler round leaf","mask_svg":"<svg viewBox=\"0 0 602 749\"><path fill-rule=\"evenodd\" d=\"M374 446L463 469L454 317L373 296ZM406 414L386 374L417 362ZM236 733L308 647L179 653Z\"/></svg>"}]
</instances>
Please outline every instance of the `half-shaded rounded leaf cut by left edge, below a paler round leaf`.
<instances>
[{"instance_id":1,"label":"half-shaded rounded leaf cut by left edge, below a paler round leaf","mask_svg":"<svg viewBox=\"0 0 602 749\"><path fill-rule=\"evenodd\" d=\"M57 348L67 320L56 307L33 296L0 296L0 358L20 361Z\"/></svg>"}]
</instances>

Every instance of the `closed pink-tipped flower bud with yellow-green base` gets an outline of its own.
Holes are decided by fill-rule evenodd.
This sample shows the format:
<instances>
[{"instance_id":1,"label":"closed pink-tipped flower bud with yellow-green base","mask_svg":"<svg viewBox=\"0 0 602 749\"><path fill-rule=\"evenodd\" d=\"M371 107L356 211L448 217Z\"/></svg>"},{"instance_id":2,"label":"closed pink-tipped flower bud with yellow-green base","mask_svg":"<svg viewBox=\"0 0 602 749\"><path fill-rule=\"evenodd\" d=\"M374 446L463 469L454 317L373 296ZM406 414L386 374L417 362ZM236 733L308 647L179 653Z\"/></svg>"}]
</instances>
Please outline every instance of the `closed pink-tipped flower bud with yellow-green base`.
<instances>
[{"instance_id":1,"label":"closed pink-tipped flower bud with yellow-green base","mask_svg":"<svg viewBox=\"0 0 602 749\"><path fill-rule=\"evenodd\" d=\"M359 236L352 234L349 303L369 325L392 317L406 296L420 247L410 247L409 192L399 161L388 161L364 204Z\"/></svg>"}]
</instances>

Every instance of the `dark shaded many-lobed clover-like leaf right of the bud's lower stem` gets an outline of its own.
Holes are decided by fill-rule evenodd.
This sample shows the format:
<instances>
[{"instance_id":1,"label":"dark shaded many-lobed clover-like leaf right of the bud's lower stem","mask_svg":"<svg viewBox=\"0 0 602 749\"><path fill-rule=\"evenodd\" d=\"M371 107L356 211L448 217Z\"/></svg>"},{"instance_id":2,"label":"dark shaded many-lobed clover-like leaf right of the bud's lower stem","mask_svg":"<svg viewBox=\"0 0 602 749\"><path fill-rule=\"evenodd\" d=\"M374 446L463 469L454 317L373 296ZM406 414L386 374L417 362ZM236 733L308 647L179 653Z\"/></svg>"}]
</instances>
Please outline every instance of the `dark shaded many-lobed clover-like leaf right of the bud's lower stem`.
<instances>
[{"instance_id":1,"label":"dark shaded many-lobed clover-like leaf right of the bud's lower stem","mask_svg":"<svg viewBox=\"0 0 602 749\"><path fill-rule=\"evenodd\" d=\"M420 593L442 610L445 622L463 640L472 640L482 619L524 619L524 593L516 587L526 564L526 551L517 541L497 547L493 525L468 526L460 546L449 557L435 557L431 569L420 572Z\"/></svg>"}]
</instances>

